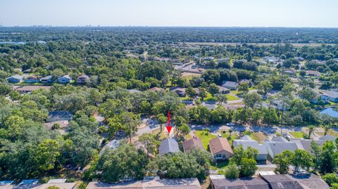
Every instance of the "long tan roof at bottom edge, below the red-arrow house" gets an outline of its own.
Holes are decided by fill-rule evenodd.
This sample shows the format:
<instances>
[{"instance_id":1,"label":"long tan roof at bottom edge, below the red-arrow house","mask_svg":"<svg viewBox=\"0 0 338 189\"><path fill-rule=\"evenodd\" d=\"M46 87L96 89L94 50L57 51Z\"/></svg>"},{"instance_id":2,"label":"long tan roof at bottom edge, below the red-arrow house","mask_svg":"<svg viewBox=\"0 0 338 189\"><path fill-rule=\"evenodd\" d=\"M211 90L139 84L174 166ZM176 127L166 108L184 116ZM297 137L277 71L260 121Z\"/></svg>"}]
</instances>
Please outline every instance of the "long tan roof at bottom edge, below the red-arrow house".
<instances>
[{"instance_id":1,"label":"long tan roof at bottom edge, below the red-arrow house","mask_svg":"<svg viewBox=\"0 0 338 189\"><path fill-rule=\"evenodd\" d=\"M144 179L122 183L90 182L86 189L201 189L197 178Z\"/></svg>"}]
</instances>

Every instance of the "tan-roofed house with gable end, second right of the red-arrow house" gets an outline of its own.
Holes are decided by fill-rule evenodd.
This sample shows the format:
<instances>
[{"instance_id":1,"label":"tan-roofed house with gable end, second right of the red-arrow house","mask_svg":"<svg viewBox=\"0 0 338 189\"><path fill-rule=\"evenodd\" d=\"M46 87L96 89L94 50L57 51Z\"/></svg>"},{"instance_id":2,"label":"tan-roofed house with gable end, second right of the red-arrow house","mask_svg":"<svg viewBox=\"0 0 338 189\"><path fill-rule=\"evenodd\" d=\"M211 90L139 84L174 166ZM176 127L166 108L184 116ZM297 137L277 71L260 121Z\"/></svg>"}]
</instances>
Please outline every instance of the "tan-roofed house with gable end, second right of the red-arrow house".
<instances>
[{"instance_id":1,"label":"tan-roofed house with gable end, second right of the red-arrow house","mask_svg":"<svg viewBox=\"0 0 338 189\"><path fill-rule=\"evenodd\" d=\"M226 138L216 137L209 141L209 149L213 155L214 162L229 159L234 155L231 146Z\"/></svg>"}]
</instances>

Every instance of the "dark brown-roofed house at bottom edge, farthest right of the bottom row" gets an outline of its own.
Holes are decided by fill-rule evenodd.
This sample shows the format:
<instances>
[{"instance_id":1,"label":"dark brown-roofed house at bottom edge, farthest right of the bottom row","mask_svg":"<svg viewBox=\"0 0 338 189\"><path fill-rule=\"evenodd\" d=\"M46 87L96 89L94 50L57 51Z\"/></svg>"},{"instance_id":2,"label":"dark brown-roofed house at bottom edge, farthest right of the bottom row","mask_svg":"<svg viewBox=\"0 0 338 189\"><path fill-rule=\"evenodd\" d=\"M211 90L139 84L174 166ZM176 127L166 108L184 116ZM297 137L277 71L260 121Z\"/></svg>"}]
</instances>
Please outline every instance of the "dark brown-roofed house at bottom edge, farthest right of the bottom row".
<instances>
[{"instance_id":1,"label":"dark brown-roofed house at bottom edge, farthest right of the bottom row","mask_svg":"<svg viewBox=\"0 0 338 189\"><path fill-rule=\"evenodd\" d=\"M307 176L297 176L289 174L277 174L277 175L262 175L264 181L266 181L272 189L310 189L320 188L329 189L329 185L325 183L319 176L309 174Z\"/></svg>"}]
</instances>

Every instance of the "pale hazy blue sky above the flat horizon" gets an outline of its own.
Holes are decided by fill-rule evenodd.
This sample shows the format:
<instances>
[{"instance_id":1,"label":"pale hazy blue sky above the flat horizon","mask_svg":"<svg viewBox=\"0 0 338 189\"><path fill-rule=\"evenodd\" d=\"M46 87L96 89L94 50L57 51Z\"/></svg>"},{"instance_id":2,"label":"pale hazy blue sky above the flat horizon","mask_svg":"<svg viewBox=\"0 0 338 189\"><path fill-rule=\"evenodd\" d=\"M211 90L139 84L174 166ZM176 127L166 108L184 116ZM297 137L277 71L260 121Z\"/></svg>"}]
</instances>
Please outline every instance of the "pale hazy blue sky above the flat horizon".
<instances>
[{"instance_id":1,"label":"pale hazy blue sky above the flat horizon","mask_svg":"<svg viewBox=\"0 0 338 189\"><path fill-rule=\"evenodd\" d=\"M0 0L5 26L338 27L337 0Z\"/></svg>"}]
</instances>

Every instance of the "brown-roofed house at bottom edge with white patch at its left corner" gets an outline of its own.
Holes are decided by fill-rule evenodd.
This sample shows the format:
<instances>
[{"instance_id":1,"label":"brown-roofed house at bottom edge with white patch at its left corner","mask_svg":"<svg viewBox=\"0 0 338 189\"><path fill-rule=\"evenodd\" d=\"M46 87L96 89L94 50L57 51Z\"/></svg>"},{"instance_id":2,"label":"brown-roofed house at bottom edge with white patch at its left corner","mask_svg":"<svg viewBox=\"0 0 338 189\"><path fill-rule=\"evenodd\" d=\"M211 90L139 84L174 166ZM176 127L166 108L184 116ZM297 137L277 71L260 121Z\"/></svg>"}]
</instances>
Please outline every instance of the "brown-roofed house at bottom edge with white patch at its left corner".
<instances>
[{"instance_id":1,"label":"brown-roofed house at bottom edge with white patch at its left corner","mask_svg":"<svg viewBox=\"0 0 338 189\"><path fill-rule=\"evenodd\" d=\"M211 175L212 189L270 189L270 186L262 178L237 178L228 179L224 175Z\"/></svg>"}]
</instances>

